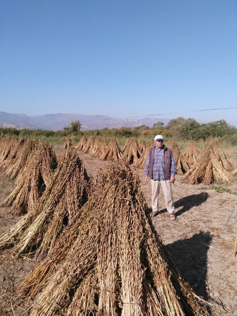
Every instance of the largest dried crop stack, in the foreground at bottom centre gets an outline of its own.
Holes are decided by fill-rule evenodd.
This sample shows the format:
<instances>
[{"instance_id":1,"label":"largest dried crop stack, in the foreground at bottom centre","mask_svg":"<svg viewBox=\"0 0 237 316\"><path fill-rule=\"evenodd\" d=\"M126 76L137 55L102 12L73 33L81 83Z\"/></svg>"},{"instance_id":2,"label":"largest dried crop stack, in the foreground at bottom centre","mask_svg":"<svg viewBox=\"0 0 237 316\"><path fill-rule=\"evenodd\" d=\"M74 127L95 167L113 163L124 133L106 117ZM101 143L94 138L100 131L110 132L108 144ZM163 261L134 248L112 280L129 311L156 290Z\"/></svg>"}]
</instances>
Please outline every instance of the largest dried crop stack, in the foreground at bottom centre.
<instances>
[{"instance_id":1,"label":"largest dried crop stack, in the foreground at bottom centre","mask_svg":"<svg viewBox=\"0 0 237 316\"><path fill-rule=\"evenodd\" d=\"M47 271L33 271L42 292L30 315L208 316L145 211L139 178L128 165L101 172L81 209L87 216L73 218L60 251L51 253L55 273L48 274L50 261Z\"/></svg>"}]
</instances>

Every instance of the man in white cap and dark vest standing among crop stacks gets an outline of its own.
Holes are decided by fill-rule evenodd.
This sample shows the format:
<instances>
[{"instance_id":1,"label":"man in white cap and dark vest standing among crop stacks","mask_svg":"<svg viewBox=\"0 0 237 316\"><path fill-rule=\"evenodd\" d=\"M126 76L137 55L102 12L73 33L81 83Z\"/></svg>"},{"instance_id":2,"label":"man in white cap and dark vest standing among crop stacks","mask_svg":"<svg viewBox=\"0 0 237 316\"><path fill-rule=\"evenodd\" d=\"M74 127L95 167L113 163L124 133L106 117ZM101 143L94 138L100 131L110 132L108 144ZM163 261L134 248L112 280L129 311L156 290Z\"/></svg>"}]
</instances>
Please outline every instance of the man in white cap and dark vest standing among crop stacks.
<instances>
[{"instance_id":1,"label":"man in white cap and dark vest standing among crop stacks","mask_svg":"<svg viewBox=\"0 0 237 316\"><path fill-rule=\"evenodd\" d=\"M175 182L177 168L171 150L164 146L162 135L155 136L154 144L155 146L147 154L145 163L145 181L148 183L148 178L150 177L151 182L151 217L158 214L158 196L161 186L169 218L173 221L176 219L176 216L174 214L171 183Z\"/></svg>"}]
</instances>

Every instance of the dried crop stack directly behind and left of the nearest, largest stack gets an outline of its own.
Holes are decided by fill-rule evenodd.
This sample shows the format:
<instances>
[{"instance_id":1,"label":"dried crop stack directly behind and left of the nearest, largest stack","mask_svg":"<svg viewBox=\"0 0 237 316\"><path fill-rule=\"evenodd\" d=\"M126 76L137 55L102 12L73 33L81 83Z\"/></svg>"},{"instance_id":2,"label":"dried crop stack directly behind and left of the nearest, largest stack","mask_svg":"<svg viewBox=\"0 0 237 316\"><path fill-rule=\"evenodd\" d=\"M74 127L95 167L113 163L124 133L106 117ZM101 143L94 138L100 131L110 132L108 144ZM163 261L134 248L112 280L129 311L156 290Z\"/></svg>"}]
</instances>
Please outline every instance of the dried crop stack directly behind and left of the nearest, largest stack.
<instances>
[{"instance_id":1,"label":"dried crop stack directly behind and left of the nearest, largest stack","mask_svg":"<svg viewBox=\"0 0 237 316\"><path fill-rule=\"evenodd\" d=\"M33 247L37 255L47 254L75 212L87 202L90 190L81 160L69 149L34 209L0 237L0 248L15 245L13 251L18 254Z\"/></svg>"}]
</instances>

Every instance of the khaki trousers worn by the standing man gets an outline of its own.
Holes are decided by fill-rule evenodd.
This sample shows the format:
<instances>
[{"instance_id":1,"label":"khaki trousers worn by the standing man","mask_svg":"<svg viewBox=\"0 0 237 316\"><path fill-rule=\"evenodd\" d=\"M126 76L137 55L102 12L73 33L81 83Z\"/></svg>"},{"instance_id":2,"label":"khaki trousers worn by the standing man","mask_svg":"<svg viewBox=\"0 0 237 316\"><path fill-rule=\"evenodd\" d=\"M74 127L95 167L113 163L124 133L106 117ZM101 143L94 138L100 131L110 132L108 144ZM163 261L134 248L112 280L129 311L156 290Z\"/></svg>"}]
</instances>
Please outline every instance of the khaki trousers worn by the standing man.
<instances>
[{"instance_id":1,"label":"khaki trousers worn by the standing man","mask_svg":"<svg viewBox=\"0 0 237 316\"><path fill-rule=\"evenodd\" d=\"M159 202L158 196L160 192L160 186L162 187L162 191L164 193L165 207L169 214L174 212L174 202L172 195L172 188L170 180L153 180L150 179L151 183L151 207L152 211L159 210Z\"/></svg>"}]
</instances>

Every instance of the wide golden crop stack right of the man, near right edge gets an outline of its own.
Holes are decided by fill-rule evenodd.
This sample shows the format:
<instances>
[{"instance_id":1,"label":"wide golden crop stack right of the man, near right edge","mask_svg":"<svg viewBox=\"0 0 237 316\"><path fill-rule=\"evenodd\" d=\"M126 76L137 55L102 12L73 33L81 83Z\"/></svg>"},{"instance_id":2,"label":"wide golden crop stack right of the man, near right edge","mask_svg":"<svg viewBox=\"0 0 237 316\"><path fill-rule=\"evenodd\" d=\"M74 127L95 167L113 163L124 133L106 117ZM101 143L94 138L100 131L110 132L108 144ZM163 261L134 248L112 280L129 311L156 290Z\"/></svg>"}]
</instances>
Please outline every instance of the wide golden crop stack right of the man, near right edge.
<instances>
[{"instance_id":1,"label":"wide golden crop stack right of the man, near right edge","mask_svg":"<svg viewBox=\"0 0 237 316\"><path fill-rule=\"evenodd\" d=\"M217 146L211 142L205 145L199 159L192 169L184 175L184 178L190 184L210 185L213 182L228 183L233 179L233 176L224 169L222 161L219 159Z\"/></svg>"}]
</instances>

